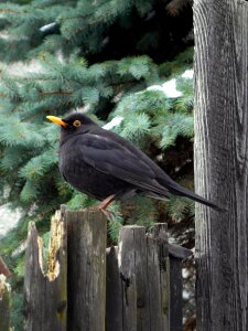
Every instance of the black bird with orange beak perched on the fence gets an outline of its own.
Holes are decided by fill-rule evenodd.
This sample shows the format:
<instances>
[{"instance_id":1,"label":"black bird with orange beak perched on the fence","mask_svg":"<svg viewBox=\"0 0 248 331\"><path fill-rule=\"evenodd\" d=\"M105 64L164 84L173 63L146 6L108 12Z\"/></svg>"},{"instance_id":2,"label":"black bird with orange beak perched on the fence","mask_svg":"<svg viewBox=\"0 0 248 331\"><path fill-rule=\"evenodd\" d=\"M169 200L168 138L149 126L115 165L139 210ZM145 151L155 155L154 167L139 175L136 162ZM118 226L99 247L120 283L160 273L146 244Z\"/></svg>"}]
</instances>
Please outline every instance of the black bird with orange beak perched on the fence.
<instances>
[{"instance_id":1,"label":"black bird with orange beak perched on the fence","mask_svg":"<svg viewBox=\"0 0 248 331\"><path fill-rule=\"evenodd\" d=\"M78 191L103 201L105 210L114 200L136 193L166 200L171 194L187 196L220 211L211 201L173 181L130 141L105 130L84 114L64 119L47 116L61 126L60 171Z\"/></svg>"}]
</instances>

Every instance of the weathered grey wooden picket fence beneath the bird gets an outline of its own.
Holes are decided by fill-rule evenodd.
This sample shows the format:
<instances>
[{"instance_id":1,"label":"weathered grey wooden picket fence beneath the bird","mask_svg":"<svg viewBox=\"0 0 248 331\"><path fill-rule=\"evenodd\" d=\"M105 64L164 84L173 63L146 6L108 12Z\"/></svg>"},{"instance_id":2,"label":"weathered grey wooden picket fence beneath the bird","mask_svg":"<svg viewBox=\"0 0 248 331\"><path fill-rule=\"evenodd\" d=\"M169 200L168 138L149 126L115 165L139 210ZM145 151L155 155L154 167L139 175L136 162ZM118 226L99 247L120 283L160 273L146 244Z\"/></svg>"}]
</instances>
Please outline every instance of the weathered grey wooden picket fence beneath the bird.
<instances>
[{"instance_id":1,"label":"weathered grey wooden picket fence beneath the bird","mask_svg":"<svg viewBox=\"0 0 248 331\"><path fill-rule=\"evenodd\" d=\"M44 265L42 239L30 223L25 330L182 330L181 264L191 250L168 244L166 224L155 224L149 234L142 226L125 226L117 247L106 250L106 242L101 212L62 206L52 218Z\"/></svg>"}]
</instances>

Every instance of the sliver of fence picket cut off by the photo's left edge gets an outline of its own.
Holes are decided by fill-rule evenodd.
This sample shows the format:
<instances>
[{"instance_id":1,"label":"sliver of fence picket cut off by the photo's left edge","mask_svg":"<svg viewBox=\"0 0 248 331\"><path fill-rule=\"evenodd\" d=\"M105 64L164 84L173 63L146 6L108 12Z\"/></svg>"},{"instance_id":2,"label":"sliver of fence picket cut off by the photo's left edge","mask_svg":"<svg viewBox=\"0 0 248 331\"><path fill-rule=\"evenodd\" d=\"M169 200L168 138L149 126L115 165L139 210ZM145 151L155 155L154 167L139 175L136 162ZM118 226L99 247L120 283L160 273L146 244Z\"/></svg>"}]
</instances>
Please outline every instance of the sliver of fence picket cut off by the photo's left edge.
<instances>
[{"instance_id":1,"label":"sliver of fence picket cut off by the photo's left edge","mask_svg":"<svg viewBox=\"0 0 248 331\"><path fill-rule=\"evenodd\" d=\"M0 330L10 330L10 285L3 274L0 275Z\"/></svg>"}]
</instances>

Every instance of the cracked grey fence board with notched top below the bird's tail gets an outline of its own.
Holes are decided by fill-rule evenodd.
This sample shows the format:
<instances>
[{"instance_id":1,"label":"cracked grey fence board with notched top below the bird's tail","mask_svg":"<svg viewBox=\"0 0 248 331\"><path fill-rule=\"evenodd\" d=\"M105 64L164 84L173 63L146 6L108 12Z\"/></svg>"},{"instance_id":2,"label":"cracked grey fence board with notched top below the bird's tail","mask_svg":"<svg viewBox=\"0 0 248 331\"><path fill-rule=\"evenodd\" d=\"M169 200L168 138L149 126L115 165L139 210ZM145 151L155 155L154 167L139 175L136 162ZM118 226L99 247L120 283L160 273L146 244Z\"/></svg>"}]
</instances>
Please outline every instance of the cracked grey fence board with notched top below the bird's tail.
<instances>
[{"instance_id":1,"label":"cracked grey fence board with notched top below the bird's tail","mask_svg":"<svg viewBox=\"0 0 248 331\"><path fill-rule=\"evenodd\" d=\"M169 330L169 257L166 226L125 226L120 232L119 268L122 280L125 331Z\"/></svg>"}]
</instances>

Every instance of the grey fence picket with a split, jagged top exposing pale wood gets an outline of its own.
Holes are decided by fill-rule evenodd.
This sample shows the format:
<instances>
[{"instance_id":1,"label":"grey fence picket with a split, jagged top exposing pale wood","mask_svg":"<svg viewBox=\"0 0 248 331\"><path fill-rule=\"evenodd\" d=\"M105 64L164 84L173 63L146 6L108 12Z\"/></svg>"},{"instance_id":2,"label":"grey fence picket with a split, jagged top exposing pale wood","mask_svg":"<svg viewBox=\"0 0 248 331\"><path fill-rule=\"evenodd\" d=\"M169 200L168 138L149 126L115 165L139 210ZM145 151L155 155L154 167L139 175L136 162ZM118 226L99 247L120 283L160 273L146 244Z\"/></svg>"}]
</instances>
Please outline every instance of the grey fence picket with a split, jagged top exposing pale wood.
<instances>
[{"instance_id":1,"label":"grey fence picket with a split, jagged top exposing pale wood","mask_svg":"<svg viewBox=\"0 0 248 331\"><path fill-rule=\"evenodd\" d=\"M30 223L24 277L24 314L28 331L65 331L67 306L66 236L60 212L51 223L47 273L43 270L43 245Z\"/></svg>"}]
</instances>

